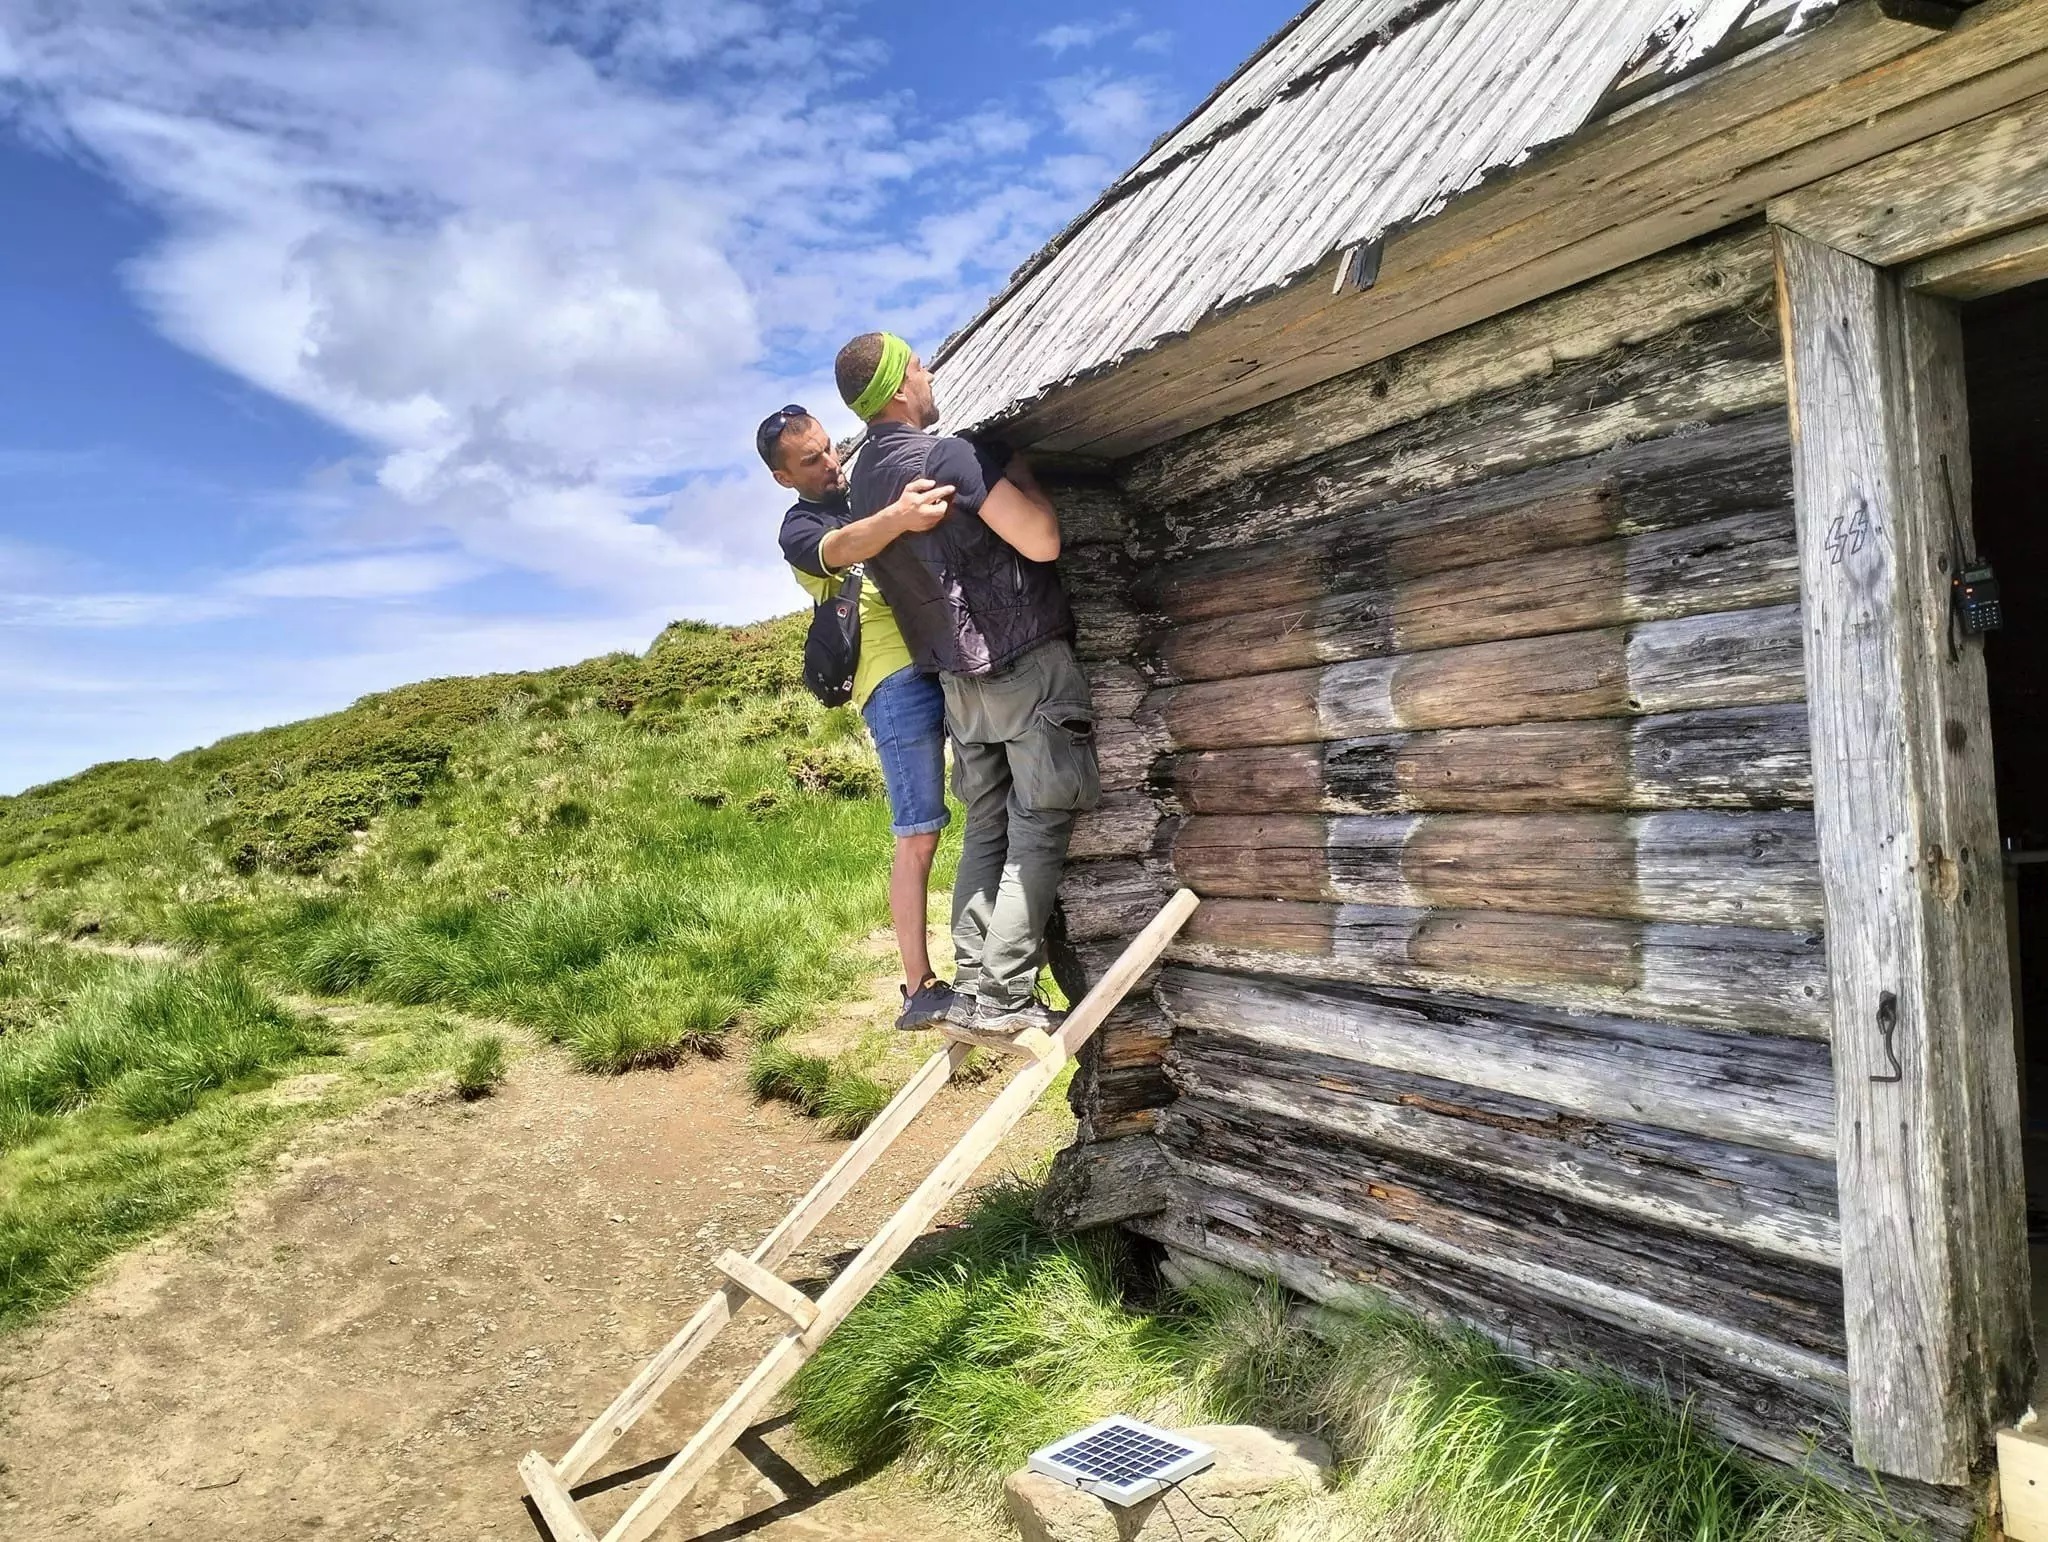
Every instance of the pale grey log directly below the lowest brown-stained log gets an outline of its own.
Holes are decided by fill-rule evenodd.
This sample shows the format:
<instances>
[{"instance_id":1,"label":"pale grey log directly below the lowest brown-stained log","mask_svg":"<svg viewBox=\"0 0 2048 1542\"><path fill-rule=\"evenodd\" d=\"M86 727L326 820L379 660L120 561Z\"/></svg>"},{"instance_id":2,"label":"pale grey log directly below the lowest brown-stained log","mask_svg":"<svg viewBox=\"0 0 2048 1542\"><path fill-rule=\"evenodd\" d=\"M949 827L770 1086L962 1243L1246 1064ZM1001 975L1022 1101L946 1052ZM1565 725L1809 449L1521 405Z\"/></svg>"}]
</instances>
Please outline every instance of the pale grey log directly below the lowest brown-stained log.
<instances>
[{"instance_id":1,"label":"pale grey log directly below the lowest brown-stained log","mask_svg":"<svg viewBox=\"0 0 2048 1542\"><path fill-rule=\"evenodd\" d=\"M1161 975L1159 1003L1176 1042L1192 1030L1247 1055L1331 1057L1550 1104L1575 1118L1823 1163L1835 1153L1835 1083L1819 1040L1186 967Z\"/></svg>"}]
</instances>

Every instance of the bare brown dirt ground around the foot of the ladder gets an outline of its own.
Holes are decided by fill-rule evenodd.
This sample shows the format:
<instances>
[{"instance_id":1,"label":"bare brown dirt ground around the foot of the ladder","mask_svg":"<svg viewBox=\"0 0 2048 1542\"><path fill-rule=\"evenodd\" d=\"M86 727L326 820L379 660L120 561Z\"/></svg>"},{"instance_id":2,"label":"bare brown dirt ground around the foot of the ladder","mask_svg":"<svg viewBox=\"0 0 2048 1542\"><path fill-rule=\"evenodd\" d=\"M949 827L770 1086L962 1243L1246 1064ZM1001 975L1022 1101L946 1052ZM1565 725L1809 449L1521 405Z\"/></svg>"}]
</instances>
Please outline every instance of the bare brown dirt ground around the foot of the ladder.
<instances>
[{"instance_id":1,"label":"bare brown dirt ground around the foot of the ladder","mask_svg":"<svg viewBox=\"0 0 2048 1542\"><path fill-rule=\"evenodd\" d=\"M987 1104L952 1087L784 1270L815 1294ZM1071 1130L1032 1116L985 1171ZM479 1104L393 1100L313 1130L238 1202L0 1341L0 1522L23 1536L545 1536L514 1464L561 1456L838 1155L735 1061L590 1077L520 1061ZM748 1309L600 1464L616 1517L774 1339ZM580 1491L580 1499L592 1489ZM893 1474L760 1425L659 1532L973 1538Z\"/></svg>"}]
</instances>

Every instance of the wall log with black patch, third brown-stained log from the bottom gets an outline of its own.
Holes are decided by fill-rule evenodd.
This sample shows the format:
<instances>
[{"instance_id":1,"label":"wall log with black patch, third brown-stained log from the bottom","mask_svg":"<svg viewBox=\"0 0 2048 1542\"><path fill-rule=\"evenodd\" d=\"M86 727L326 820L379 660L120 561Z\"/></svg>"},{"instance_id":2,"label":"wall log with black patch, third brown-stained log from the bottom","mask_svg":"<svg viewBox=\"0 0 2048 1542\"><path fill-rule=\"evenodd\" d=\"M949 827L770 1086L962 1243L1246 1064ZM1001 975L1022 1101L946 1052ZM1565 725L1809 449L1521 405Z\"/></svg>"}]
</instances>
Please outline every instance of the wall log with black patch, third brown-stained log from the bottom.
<instances>
[{"instance_id":1,"label":"wall log with black patch, third brown-stained log from the bottom","mask_svg":"<svg viewBox=\"0 0 2048 1542\"><path fill-rule=\"evenodd\" d=\"M1524 723L1176 756L1190 813L1812 807L1804 706Z\"/></svg>"}]
</instances>

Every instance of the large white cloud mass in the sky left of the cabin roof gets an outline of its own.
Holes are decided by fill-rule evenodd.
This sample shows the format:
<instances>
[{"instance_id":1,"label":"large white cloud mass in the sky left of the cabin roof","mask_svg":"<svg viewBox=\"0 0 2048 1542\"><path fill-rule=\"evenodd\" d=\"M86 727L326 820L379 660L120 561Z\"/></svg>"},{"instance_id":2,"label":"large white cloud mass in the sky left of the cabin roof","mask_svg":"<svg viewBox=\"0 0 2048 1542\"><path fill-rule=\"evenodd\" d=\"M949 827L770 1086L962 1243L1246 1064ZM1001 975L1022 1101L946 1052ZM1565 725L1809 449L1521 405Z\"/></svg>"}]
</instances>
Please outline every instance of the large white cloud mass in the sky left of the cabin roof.
<instances>
[{"instance_id":1,"label":"large white cloud mass in the sky left of the cabin roof","mask_svg":"<svg viewBox=\"0 0 2048 1542\"><path fill-rule=\"evenodd\" d=\"M360 436L414 534L621 600L723 588L647 487L745 469L778 354L877 313L936 342L1065 213L1026 178L983 242L864 227L1032 125L920 139L821 0L0 16L0 102L164 219L127 276L168 336Z\"/></svg>"}]
</instances>

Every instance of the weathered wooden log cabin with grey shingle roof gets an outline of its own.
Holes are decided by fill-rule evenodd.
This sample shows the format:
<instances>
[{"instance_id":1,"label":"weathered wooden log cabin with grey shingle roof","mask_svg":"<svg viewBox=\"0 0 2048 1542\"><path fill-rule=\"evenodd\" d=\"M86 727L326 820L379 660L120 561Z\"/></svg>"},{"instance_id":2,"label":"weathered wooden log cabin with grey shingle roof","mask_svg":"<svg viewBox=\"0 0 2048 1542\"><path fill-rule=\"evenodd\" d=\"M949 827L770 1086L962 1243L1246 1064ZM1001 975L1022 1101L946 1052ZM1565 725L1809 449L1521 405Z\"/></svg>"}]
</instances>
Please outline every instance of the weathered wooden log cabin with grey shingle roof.
<instances>
[{"instance_id":1,"label":"weathered wooden log cabin with grey shingle roof","mask_svg":"<svg viewBox=\"0 0 2048 1542\"><path fill-rule=\"evenodd\" d=\"M1049 1204L1966 1509L2036 1364L2044 279L2048 0L1323 0L1026 264L938 385L1057 471L1061 977L1204 897Z\"/></svg>"}]
</instances>

